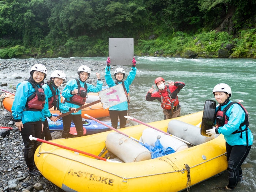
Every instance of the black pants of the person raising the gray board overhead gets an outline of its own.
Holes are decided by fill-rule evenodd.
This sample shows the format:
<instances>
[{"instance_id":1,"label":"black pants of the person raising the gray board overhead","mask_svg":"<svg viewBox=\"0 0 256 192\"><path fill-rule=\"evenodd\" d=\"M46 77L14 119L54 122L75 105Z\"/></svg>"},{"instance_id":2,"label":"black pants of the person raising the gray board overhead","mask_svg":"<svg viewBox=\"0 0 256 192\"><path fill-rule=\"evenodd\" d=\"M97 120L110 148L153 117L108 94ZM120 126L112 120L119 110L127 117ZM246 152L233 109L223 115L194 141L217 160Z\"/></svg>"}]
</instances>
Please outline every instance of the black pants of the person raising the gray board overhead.
<instances>
[{"instance_id":1,"label":"black pants of the person raising the gray board overhead","mask_svg":"<svg viewBox=\"0 0 256 192\"><path fill-rule=\"evenodd\" d=\"M127 110L124 111L117 111L117 110L109 110L109 116L111 119L111 125L113 128L117 129L118 125L118 116L120 120L120 128L124 128L126 125L126 118L124 116L127 116Z\"/></svg>"}]
</instances>

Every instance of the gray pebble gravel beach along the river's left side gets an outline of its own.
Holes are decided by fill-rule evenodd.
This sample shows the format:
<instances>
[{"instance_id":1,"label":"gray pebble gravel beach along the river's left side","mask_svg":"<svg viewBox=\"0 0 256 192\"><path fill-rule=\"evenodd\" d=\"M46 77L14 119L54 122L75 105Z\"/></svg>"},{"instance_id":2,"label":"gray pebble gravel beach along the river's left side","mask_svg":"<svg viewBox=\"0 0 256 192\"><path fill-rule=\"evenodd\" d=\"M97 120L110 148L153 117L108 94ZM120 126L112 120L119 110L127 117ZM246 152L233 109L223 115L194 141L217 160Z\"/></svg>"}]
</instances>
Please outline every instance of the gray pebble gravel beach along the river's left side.
<instances>
[{"instance_id":1,"label":"gray pebble gravel beach along the river's left side","mask_svg":"<svg viewBox=\"0 0 256 192\"><path fill-rule=\"evenodd\" d=\"M49 80L52 71L60 69L67 75L67 81L78 77L76 74L80 65L91 68L90 79L87 83L96 84L95 72L101 74L103 85L106 85L105 62L87 61L83 59L39 59L39 60L0 60L0 89L15 93L16 85L29 78L30 68L34 64L43 64L48 69ZM116 66L112 66L116 68ZM129 71L130 67L120 66ZM66 81L66 82L67 82ZM45 81L46 82L46 81ZM60 86L62 90L65 86ZM0 95L4 91L0 90ZM5 109L0 109L0 126L15 128L12 114ZM0 130L1 131L1 130ZM0 136L0 192L63 192L62 189L46 180L44 177L35 177L28 173L23 157L24 144L18 130L1 131Z\"/></svg>"}]
</instances>

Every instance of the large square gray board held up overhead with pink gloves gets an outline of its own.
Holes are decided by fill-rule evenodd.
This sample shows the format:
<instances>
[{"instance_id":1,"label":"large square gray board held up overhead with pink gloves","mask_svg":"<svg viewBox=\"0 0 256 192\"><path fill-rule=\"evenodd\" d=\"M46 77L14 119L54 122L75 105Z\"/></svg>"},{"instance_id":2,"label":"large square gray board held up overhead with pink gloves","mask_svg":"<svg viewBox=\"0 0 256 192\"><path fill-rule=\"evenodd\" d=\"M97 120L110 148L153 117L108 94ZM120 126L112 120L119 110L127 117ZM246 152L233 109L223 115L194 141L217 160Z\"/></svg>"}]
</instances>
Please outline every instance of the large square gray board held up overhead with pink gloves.
<instances>
[{"instance_id":1,"label":"large square gray board held up overhead with pink gloves","mask_svg":"<svg viewBox=\"0 0 256 192\"><path fill-rule=\"evenodd\" d=\"M110 65L132 65L133 38L109 38Z\"/></svg>"}]
</instances>

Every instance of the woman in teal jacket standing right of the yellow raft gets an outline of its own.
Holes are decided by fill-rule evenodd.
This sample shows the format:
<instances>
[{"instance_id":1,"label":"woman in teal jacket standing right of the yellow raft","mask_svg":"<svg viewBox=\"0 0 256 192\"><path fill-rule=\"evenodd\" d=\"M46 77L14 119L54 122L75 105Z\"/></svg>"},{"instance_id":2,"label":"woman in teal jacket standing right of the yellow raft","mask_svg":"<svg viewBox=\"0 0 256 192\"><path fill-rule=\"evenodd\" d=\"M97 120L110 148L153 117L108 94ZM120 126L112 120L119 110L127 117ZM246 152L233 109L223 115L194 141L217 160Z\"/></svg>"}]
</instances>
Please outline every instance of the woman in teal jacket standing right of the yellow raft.
<instances>
[{"instance_id":1,"label":"woman in teal jacket standing right of the yellow raft","mask_svg":"<svg viewBox=\"0 0 256 192\"><path fill-rule=\"evenodd\" d=\"M215 99L219 103L216 108L218 127L206 130L207 135L221 133L226 140L227 172L229 184L225 190L232 190L242 178L241 165L249 154L253 143L253 135L248 128L248 113L240 103L231 102L231 88L225 84L217 84L213 89Z\"/></svg>"}]
</instances>

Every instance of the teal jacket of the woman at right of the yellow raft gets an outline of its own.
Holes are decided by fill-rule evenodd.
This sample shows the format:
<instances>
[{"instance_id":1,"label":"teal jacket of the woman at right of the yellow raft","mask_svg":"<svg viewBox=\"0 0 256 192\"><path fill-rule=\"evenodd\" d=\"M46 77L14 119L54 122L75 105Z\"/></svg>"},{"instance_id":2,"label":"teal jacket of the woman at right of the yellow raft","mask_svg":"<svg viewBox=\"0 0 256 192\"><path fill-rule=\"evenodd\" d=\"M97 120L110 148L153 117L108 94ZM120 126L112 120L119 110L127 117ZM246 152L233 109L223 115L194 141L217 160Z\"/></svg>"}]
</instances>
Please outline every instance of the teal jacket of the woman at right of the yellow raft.
<instances>
[{"instance_id":1,"label":"teal jacket of the woman at right of the yellow raft","mask_svg":"<svg viewBox=\"0 0 256 192\"><path fill-rule=\"evenodd\" d=\"M229 101L230 103L231 101ZM227 103L227 105L229 104ZM221 110L223 110L227 105L221 106ZM216 112L220 106L216 107ZM240 124L245 120L245 112L244 110L238 105L233 104L225 113L226 116L229 117L229 121L227 124L223 125L222 127L218 128L218 132L224 135L226 142L231 145L245 145L246 146L246 133L245 131L242 132L242 139L240 138L241 133L232 134L234 131L237 131L240 127ZM216 121L215 121L216 123ZM246 128L246 125L242 127L242 130ZM241 130L238 130L241 131ZM253 135L251 130L248 127L248 142L249 145L252 145L253 142Z\"/></svg>"}]
</instances>

